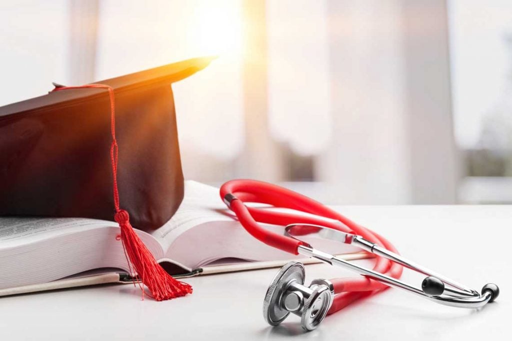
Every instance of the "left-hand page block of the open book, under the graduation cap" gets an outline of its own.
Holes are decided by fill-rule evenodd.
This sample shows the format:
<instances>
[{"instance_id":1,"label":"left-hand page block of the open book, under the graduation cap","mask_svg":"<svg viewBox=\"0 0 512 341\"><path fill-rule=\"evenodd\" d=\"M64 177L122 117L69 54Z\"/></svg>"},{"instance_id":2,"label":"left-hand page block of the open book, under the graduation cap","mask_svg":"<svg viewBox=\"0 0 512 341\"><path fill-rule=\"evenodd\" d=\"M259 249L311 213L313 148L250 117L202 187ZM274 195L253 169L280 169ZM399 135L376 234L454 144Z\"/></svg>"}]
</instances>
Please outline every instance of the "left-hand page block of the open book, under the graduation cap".
<instances>
[{"instance_id":1,"label":"left-hand page block of the open book, under the graduation cap","mask_svg":"<svg viewBox=\"0 0 512 341\"><path fill-rule=\"evenodd\" d=\"M0 289L46 283L83 271L129 272L116 222L80 218L0 218ZM156 259L158 241L138 231Z\"/></svg>"}]
</instances>

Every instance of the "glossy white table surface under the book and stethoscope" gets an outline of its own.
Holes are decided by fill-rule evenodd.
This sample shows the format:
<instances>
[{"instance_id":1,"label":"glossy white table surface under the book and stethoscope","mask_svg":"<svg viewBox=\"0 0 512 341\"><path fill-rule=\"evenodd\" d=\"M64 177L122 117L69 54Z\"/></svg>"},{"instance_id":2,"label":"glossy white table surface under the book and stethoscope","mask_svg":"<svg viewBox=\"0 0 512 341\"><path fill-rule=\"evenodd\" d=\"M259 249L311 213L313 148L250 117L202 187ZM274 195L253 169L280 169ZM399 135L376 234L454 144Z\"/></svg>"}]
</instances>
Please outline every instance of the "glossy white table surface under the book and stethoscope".
<instances>
[{"instance_id":1,"label":"glossy white table surface under the book and stethoscope","mask_svg":"<svg viewBox=\"0 0 512 341\"><path fill-rule=\"evenodd\" d=\"M166 302L141 301L131 285L2 298L0 340L511 339L511 206L337 209L435 271L478 290L487 282L498 284L500 297L480 310L461 309L389 289L327 316L316 330L304 333L295 315L274 328L263 320L263 297L277 271L267 269L187 279L194 294ZM307 283L344 276L350 272L325 264L306 266ZM421 280L409 271L402 279L417 285Z\"/></svg>"}]
</instances>

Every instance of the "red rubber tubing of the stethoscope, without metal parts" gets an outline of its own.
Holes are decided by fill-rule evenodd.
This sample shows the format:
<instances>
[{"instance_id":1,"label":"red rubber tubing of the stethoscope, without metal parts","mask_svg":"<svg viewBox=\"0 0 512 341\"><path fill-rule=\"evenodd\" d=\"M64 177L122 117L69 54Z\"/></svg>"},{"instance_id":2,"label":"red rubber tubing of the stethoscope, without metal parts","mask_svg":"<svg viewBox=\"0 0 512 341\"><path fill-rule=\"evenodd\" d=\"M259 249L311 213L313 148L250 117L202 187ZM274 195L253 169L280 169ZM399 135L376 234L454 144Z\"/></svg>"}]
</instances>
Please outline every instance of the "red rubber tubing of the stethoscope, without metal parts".
<instances>
[{"instance_id":1,"label":"red rubber tubing of the stethoscope, without metal parts","mask_svg":"<svg viewBox=\"0 0 512 341\"><path fill-rule=\"evenodd\" d=\"M222 185L220 189L221 198L224 199L227 194L234 196L234 199L229 204L229 208L237 215L245 230L263 243L282 249L285 252L297 255L297 247L305 243L270 232L262 228L258 222L283 226L297 222L323 225L331 229L360 235L377 245L387 248L389 251L398 253L396 248L386 238L353 222L322 203L286 188L263 181L237 179ZM287 208L311 213L333 219L334 221L330 222L325 219L301 214L247 207L244 202L266 203L276 208ZM376 256L373 270L398 279L402 275L403 267L387 258ZM332 279L331 282L334 285L336 296L328 312L329 314L346 307L358 299L388 288L385 284L365 277L336 278Z\"/></svg>"}]
</instances>

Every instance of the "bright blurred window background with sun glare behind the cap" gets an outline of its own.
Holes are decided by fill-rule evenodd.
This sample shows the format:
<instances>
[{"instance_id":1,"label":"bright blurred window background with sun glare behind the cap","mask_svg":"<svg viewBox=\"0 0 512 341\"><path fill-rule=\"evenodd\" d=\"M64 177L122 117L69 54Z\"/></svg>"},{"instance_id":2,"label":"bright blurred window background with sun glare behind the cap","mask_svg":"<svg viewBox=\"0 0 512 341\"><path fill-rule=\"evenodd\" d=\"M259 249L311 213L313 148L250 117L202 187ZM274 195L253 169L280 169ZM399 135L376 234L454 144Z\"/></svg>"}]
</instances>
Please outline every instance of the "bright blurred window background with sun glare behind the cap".
<instances>
[{"instance_id":1,"label":"bright blurred window background with sun glare behind the cap","mask_svg":"<svg viewBox=\"0 0 512 341\"><path fill-rule=\"evenodd\" d=\"M185 177L328 203L512 202L512 2L0 0L0 105L204 55Z\"/></svg>"}]
</instances>

